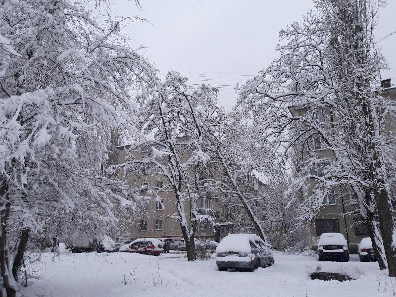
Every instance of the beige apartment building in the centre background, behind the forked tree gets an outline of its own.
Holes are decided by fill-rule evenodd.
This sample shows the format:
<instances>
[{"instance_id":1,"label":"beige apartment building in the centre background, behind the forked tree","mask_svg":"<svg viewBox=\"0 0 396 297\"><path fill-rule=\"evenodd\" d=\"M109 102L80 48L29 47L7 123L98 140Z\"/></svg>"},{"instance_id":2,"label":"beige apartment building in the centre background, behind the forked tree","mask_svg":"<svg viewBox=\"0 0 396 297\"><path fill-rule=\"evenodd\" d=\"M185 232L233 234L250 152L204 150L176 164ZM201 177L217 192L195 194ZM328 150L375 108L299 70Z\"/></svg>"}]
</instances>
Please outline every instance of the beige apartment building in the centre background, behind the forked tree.
<instances>
[{"instance_id":1,"label":"beige apartment building in the centre background, behind the forked tree","mask_svg":"<svg viewBox=\"0 0 396 297\"><path fill-rule=\"evenodd\" d=\"M183 138L179 139L181 144ZM117 147L119 160L125 159L127 151L137 159L142 157L142 151L131 150L130 146ZM187 158L184 156L183 158ZM183 159L182 159L183 161ZM122 174L122 173L119 173ZM221 171L210 168L208 173L218 176ZM148 238L183 238L179 222L172 215L177 214L176 197L172 190L166 187L167 179L163 174L155 173L149 166L143 166L138 174L127 174L125 182L136 188L142 188L140 194L147 198L147 205L141 212L133 217L123 220L122 237L133 239L140 237ZM215 225L209 222L201 222L196 232L198 239L223 238L232 230L232 223L228 221L228 209L221 203L221 193L208 192L199 197L198 212L213 218ZM190 211L189 201L184 204L186 214Z\"/></svg>"}]
</instances>

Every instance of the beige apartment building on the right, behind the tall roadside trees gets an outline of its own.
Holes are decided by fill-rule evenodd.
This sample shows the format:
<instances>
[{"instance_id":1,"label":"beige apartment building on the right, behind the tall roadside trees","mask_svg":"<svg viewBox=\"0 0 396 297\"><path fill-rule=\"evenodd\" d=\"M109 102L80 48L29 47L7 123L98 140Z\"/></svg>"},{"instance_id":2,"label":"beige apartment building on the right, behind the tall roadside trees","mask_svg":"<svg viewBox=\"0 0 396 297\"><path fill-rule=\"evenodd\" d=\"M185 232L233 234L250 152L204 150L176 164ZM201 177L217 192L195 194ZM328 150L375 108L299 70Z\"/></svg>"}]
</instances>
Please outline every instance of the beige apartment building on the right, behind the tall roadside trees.
<instances>
[{"instance_id":1,"label":"beige apartment building on the right, behind the tall roadside trees","mask_svg":"<svg viewBox=\"0 0 396 297\"><path fill-rule=\"evenodd\" d=\"M390 99L396 99L396 87L392 87L390 80L383 81L383 95ZM319 112L318 119L325 121L325 115L328 110L322 110L322 114ZM304 109L293 109L293 115L302 115L305 113ZM329 114L330 115L330 114ZM396 131L396 123L391 119L387 121L388 126L385 128L389 133ZM319 158L334 159L333 151L328 149L322 149L321 140L312 140L313 149L318 154ZM308 148L305 145L303 148L307 151ZM307 155L306 153L304 155ZM308 157L306 157L308 158ZM306 161L305 159L303 160ZM325 164L327 165L327 164ZM325 175L325 166L318 166L312 169L318 174L318 176ZM315 181L311 180L308 185L308 191L311 192L315 186ZM311 193L305 193L311 194ZM360 215L360 210L355 202L354 194L349 193L349 189L340 189L340 187L334 187L330 195L325 199L324 205L321 207L318 214L307 223L308 228L308 243L312 249L317 249L317 241L322 233L337 232L342 233L349 244L349 252L356 253L357 245L359 242L368 237L368 230L366 224Z\"/></svg>"}]
</instances>

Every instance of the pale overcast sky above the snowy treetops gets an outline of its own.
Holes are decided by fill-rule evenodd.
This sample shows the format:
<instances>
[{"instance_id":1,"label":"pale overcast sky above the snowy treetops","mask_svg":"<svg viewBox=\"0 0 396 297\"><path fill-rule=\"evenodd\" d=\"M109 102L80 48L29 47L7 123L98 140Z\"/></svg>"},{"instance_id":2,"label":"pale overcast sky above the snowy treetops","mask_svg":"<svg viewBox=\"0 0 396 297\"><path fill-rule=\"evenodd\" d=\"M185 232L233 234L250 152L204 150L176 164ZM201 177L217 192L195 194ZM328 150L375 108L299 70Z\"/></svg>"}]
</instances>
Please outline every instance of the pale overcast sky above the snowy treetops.
<instances>
[{"instance_id":1,"label":"pale overcast sky above the snowy treetops","mask_svg":"<svg viewBox=\"0 0 396 297\"><path fill-rule=\"evenodd\" d=\"M376 39L396 30L396 1L380 10ZM175 70L190 83L218 87L220 105L237 99L234 86L243 84L277 56L278 32L313 7L311 0L114 0L118 15L147 17L124 30L137 48L161 71ZM380 43L390 70L382 77L396 81L396 34Z\"/></svg>"}]
</instances>

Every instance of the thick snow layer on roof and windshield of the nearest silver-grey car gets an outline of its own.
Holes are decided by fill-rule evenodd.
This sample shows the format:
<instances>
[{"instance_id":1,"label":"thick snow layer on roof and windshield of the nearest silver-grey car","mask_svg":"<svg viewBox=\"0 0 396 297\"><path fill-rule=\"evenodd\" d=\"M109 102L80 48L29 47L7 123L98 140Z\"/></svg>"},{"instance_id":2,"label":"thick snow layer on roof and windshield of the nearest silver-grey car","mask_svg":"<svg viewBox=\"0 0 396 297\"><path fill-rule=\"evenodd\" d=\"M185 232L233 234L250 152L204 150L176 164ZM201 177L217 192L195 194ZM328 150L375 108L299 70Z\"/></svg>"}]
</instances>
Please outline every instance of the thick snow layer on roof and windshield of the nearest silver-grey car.
<instances>
[{"instance_id":1,"label":"thick snow layer on roof and windshield of the nearest silver-grey car","mask_svg":"<svg viewBox=\"0 0 396 297\"><path fill-rule=\"evenodd\" d=\"M261 238L255 234L233 233L224 237L216 247L216 252L250 252L251 247L249 241L259 241L264 243Z\"/></svg>"}]
</instances>

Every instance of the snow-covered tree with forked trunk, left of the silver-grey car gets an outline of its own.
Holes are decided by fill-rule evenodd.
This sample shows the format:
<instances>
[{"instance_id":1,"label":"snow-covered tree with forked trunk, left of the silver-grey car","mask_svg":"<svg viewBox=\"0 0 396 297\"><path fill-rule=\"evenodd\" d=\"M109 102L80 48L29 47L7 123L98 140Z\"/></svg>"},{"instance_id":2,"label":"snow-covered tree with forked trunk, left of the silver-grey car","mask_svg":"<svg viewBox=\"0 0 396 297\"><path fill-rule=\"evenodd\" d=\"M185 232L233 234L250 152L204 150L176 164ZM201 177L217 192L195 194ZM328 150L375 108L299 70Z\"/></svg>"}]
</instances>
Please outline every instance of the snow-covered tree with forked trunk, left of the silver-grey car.
<instances>
[{"instance_id":1,"label":"snow-covered tree with forked trunk, left of the silver-grey car","mask_svg":"<svg viewBox=\"0 0 396 297\"><path fill-rule=\"evenodd\" d=\"M164 175L167 183L161 191L175 195L177 213L171 217L180 224L189 261L196 258L198 223L213 220L198 212L198 198L206 191L200 173L210 163L207 135L216 121L216 96L215 88L192 88L176 72L169 72L163 83L147 86L138 98L147 138L130 148L142 152L142 157L130 153L124 164L115 167L139 174L142 166L148 166L149 174Z\"/></svg>"}]
</instances>

